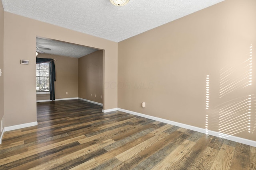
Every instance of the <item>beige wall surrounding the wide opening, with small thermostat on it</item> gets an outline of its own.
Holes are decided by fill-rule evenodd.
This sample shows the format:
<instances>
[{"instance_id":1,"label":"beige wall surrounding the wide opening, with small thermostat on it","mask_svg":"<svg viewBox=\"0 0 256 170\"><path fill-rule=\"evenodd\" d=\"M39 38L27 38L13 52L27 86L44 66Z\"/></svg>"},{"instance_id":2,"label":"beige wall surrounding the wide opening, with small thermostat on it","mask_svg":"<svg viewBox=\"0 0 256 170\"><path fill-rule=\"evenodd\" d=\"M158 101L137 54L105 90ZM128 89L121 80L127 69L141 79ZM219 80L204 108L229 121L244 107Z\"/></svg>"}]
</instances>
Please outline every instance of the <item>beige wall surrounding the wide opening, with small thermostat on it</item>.
<instances>
[{"instance_id":1,"label":"beige wall surrounding the wide opening, with small thermostat on it","mask_svg":"<svg viewBox=\"0 0 256 170\"><path fill-rule=\"evenodd\" d=\"M6 127L36 121L36 64L20 64L20 59L36 63L37 36L103 49L103 80L117 82L118 43L4 12ZM117 107L117 87L104 89L103 103L103 109Z\"/></svg>"}]
</instances>

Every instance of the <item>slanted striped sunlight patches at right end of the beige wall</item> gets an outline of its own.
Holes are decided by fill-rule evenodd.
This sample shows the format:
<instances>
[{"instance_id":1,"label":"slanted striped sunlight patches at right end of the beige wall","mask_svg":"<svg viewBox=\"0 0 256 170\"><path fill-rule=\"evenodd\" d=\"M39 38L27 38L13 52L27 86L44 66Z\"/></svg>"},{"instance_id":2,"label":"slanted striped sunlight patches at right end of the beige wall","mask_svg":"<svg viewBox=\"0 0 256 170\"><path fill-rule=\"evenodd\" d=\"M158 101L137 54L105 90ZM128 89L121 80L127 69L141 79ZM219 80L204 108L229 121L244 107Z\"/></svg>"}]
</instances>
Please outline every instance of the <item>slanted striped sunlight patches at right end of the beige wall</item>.
<instances>
[{"instance_id":1,"label":"slanted striped sunlight patches at right end of the beige wall","mask_svg":"<svg viewBox=\"0 0 256 170\"><path fill-rule=\"evenodd\" d=\"M228 99L232 92L241 92L252 85L252 44L247 56L244 62L220 70L220 98ZM228 100L218 107L220 137L235 135L242 131L251 133L252 95Z\"/></svg>"}]
</instances>

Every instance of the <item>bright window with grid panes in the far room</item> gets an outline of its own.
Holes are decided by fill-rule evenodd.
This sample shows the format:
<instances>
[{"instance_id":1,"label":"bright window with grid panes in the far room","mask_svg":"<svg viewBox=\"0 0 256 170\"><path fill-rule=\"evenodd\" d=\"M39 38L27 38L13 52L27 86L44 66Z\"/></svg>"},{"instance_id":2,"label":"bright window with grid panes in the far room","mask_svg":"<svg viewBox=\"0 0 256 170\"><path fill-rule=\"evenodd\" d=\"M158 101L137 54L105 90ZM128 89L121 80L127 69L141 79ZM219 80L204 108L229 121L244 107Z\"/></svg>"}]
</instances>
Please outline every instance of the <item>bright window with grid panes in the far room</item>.
<instances>
[{"instance_id":1,"label":"bright window with grid panes in the far room","mask_svg":"<svg viewBox=\"0 0 256 170\"><path fill-rule=\"evenodd\" d=\"M50 91L50 62L36 64L36 92Z\"/></svg>"}]
</instances>

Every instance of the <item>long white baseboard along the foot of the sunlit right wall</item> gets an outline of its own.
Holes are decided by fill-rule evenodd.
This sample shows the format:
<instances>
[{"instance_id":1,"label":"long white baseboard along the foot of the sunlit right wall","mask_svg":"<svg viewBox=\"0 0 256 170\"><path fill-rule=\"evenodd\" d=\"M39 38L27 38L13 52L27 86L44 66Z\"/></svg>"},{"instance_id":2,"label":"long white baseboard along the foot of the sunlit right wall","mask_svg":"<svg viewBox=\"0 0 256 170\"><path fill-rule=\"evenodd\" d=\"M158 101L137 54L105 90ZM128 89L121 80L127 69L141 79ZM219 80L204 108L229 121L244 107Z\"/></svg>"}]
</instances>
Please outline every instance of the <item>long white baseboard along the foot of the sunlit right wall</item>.
<instances>
[{"instance_id":1,"label":"long white baseboard along the foot of the sunlit right wall","mask_svg":"<svg viewBox=\"0 0 256 170\"><path fill-rule=\"evenodd\" d=\"M122 112L125 112L125 113L130 113L132 115L145 117L145 118L148 118L148 119L152 119L152 120L155 120L155 121L160 121L160 122L167 123L167 124L170 124L170 125L175 125L175 126L178 126L178 127L183 127L185 129L190 129L192 131L197 131L197 132L200 132L200 133L206 133L206 129L202 129L200 127L186 125L186 124L183 124L183 123L178 123L178 122L175 122L175 121L170 121L170 120L162 119L162 118L159 118L159 117L145 115L145 114L142 114L142 113L137 113L137 112L126 110L126 109L118 108L118 111L122 111ZM220 137L220 133L218 133L216 131L208 130L208 135L212 135L212 136L215 136L215 137ZM228 139L230 141L234 141L234 142L242 143L242 144L245 144L245 145L250 145L252 147L256 147L256 141L252 141L252 140L248 140L248 139L244 139L244 138L240 138L240 137L235 137L235 136L232 136L232 135L221 134L221 136L224 136L222 138Z\"/></svg>"}]
</instances>

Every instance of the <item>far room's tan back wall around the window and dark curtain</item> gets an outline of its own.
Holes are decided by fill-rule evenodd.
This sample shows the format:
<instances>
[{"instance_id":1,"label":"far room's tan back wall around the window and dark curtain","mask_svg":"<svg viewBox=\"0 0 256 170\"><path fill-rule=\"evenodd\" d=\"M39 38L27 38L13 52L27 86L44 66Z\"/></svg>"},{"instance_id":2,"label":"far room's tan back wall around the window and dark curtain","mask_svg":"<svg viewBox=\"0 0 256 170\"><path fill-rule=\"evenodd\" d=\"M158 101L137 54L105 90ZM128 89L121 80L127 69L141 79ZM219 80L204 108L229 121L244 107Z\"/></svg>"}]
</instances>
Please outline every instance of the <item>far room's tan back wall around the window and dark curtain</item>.
<instances>
[{"instance_id":1,"label":"far room's tan back wall around the window and dark curtain","mask_svg":"<svg viewBox=\"0 0 256 170\"><path fill-rule=\"evenodd\" d=\"M78 97L78 59L38 53L39 58L56 59L55 99ZM68 92L68 94L66 94ZM50 100L50 94L36 95L36 100Z\"/></svg>"}]
</instances>

